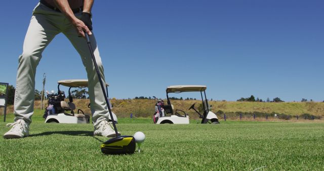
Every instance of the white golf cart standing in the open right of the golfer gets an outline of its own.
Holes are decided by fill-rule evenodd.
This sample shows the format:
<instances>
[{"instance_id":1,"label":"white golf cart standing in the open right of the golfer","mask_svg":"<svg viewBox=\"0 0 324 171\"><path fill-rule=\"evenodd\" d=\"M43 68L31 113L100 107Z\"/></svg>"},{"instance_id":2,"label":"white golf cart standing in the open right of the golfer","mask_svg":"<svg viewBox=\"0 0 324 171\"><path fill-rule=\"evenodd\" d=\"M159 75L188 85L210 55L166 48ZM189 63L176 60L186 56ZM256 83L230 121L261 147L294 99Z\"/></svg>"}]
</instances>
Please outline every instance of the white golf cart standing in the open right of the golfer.
<instances>
[{"instance_id":1,"label":"white golf cart standing in the open right of the golfer","mask_svg":"<svg viewBox=\"0 0 324 171\"><path fill-rule=\"evenodd\" d=\"M190 86L190 85L184 85L184 86L170 86L167 88L167 101L168 105L164 105L163 109L165 113L170 113L171 116L163 116L163 117L158 117L156 124L161 124L161 123L189 123L189 116L188 114L183 111L174 108L174 106L170 102L169 98L169 93L182 93L182 92L200 92L201 95L201 101L203 102L203 108L204 108L204 113L200 114L195 108L194 104L190 106L190 109L193 109L196 113L198 113L199 118L201 118L201 123L219 123L218 117L215 113L211 112L209 109L208 105L208 100L206 97L206 86ZM205 99L203 97L203 92L205 95Z\"/></svg>"}]
</instances>

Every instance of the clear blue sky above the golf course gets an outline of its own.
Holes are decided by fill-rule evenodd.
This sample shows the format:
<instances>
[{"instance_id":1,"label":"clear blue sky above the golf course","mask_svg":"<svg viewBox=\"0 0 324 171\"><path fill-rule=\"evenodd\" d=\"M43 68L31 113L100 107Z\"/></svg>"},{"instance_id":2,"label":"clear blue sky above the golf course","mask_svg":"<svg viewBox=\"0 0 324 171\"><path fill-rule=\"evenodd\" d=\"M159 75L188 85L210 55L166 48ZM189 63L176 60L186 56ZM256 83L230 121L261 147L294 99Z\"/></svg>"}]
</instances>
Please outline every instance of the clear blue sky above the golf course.
<instances>
[{"instance_id":1,"label":"clear blue sky above the golf course","mask_svg":"<svg viewBox=\"0 0 324 171\"><path fill-rule=\"evenodd\" d=\"M18 56L36 0L3 1L0 82L16 85ZM93 27L109 95L165 98L168 86L203 84L236 101L324 100L324 1L95 1ZM36 89L86 78L59 34L37 67ZM67 91L67 90L66 90ZM183 94L178 97L199 97Z\"/></svg>"}]
</instances>

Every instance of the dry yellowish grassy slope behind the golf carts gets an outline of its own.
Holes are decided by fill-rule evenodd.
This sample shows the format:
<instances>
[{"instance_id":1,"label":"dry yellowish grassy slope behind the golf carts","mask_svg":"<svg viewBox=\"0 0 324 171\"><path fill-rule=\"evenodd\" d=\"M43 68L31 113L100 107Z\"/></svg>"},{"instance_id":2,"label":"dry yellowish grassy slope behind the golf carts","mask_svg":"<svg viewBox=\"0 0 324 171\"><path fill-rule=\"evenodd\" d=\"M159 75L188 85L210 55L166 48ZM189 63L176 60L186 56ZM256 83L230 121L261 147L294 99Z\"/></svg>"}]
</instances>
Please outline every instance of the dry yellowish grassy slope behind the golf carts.
<instances>
[{"instance_id":1,"label":"dry yellowish grassy slope behind the golf carts","mask_svg":"<svg viewBox=\"0 0 324 171\"><path fill-rule=\"evenodd\" d=\"M118 117L130 117L130 114L137 117L151 117L154 113L155 100L111 100L114 105L113 112ZM83 109L86 113L90 113L89 100L74 99L73 103L77 108ZM172 101L176 109L187 111L191 118L197 118L198 115L187 109L196 103L196 107L201 103L194 100L174 100ZM212 111L222 110L226 112L263 112L263 113L284 113L287 115L302 115L309 113L315 116L324 116L323 102L285 102L285 103L260 103L260 102L209 102L212 105ZM40 102L35 101L35 108L40 108ZM7 113L12 113L13 106L8 107Z\"/></svg>"}]
</instances>

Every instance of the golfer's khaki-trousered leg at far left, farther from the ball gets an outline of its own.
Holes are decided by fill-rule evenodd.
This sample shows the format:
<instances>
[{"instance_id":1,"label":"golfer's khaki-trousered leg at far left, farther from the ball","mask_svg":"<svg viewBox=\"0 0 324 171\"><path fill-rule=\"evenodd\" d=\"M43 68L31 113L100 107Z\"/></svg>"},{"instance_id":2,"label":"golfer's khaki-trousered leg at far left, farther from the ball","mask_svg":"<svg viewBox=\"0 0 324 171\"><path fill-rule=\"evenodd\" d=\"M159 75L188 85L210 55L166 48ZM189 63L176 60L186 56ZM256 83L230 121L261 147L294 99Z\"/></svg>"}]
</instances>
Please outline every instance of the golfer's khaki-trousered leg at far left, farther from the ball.
<instances>
[{"instance_id":1,"label":"golfer's khaki-trousered leg at far left, farther from the ball","mask_svg":"<svg viewBox=\"0 0 324 171\"><path fill-rule=\"evenodd\" d=\"M24 119L28 124L31 123L36 66L42 58L43 50L57 33L57 28L48 22L46 16L32 16L24 40L23 53L19 56L14 101L15 121Z\"/></svg>"}]
</instances>

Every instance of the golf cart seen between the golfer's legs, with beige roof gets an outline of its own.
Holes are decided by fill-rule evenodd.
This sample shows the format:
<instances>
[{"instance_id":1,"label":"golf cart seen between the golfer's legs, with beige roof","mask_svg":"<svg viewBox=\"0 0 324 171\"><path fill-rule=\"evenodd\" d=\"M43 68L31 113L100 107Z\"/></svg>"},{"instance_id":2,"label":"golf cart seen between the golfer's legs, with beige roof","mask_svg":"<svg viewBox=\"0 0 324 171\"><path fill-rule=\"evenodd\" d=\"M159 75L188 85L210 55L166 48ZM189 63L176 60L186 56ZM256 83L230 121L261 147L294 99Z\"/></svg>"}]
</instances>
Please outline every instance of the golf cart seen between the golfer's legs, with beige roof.
<instances>
[{"instance_id":1,"label":"golf cart seen between the golfer's legs, with beige roof","mask_svg":"<svg viewBox=\"0 0 324 171\"><path fill-rule=\"evenodd\" d=\"M90 114L85 114L83 110L77 109L73 103L73 98L71 96L71 88L86 88L88 87L87 79L70 79L70 80L60 80L57 82L57 94L48 94L48 107L45 110L44 118L45 123L89 123L90 122ZM60 90L60 86L69 87L68 95L69 102L65 102L65 94ZM108 97L108 84L106 83L106 92ZM110 105L110 104L109 104ZM90 108L90 104L88 105ZM114 121L117 122L117 117L114 113L112 113ZM110 118L110 116L109 116ZM110 119L109 119L110 120Z\"/></svg>"}]
</instances>

